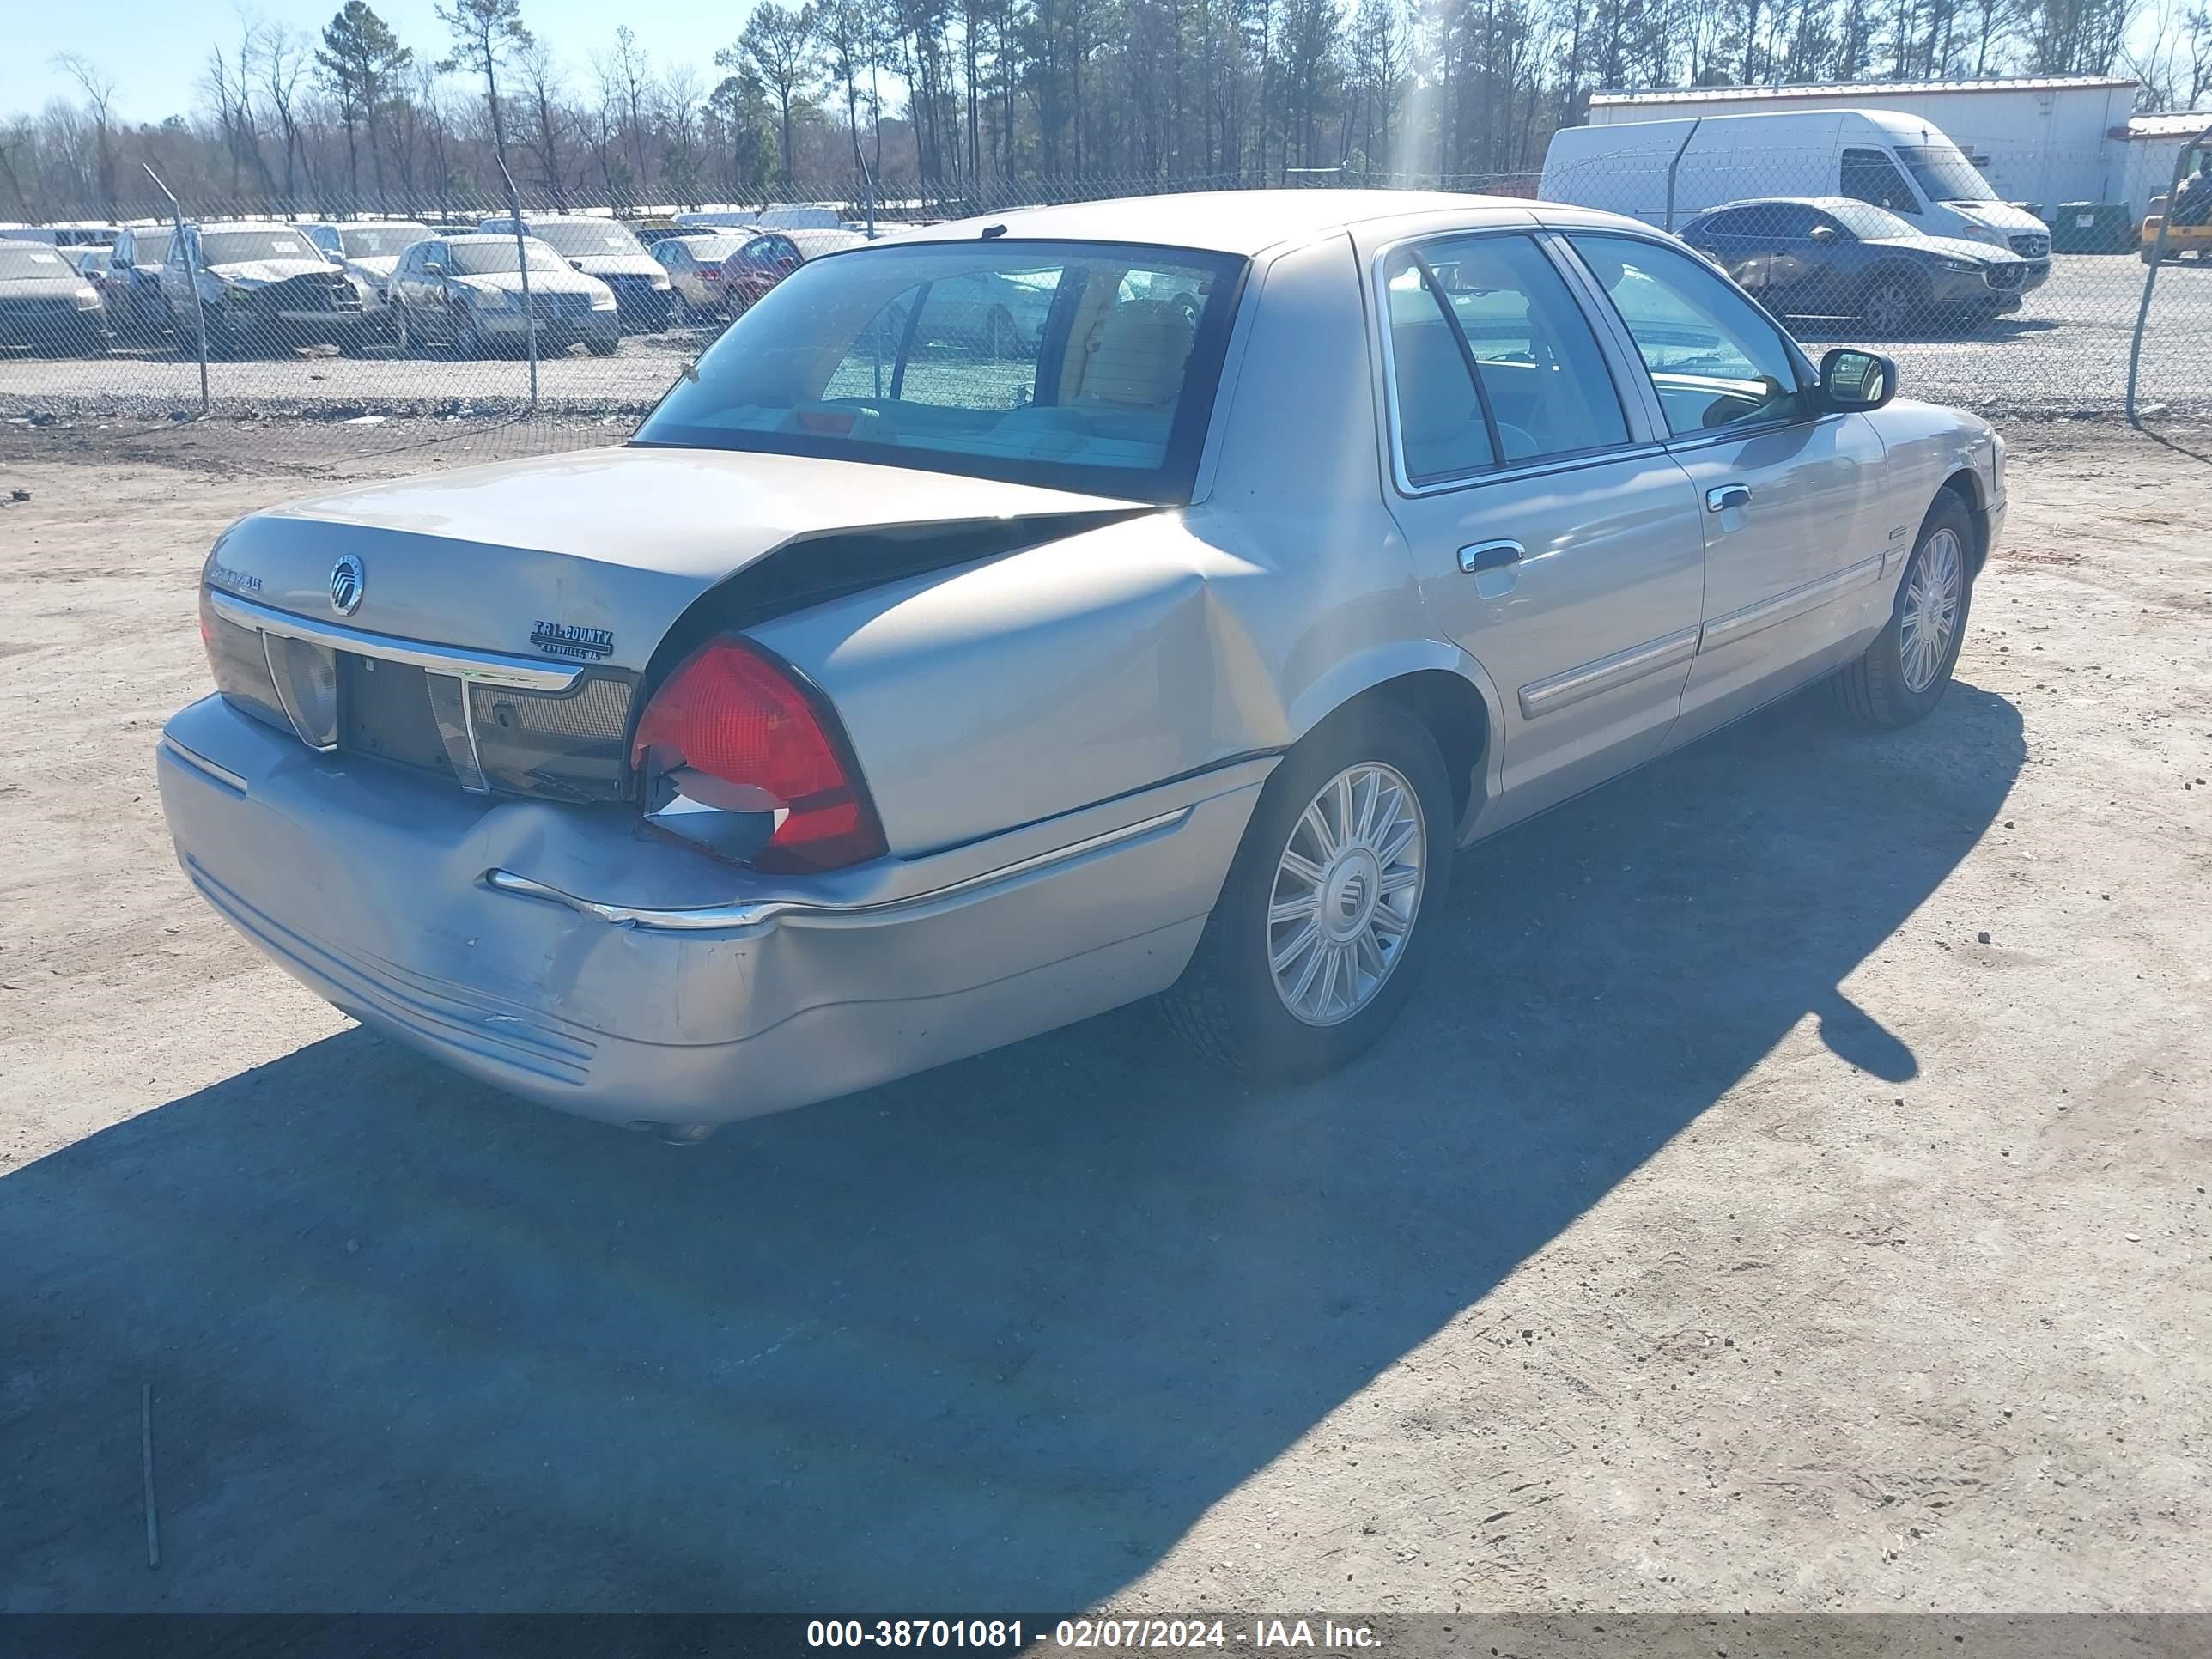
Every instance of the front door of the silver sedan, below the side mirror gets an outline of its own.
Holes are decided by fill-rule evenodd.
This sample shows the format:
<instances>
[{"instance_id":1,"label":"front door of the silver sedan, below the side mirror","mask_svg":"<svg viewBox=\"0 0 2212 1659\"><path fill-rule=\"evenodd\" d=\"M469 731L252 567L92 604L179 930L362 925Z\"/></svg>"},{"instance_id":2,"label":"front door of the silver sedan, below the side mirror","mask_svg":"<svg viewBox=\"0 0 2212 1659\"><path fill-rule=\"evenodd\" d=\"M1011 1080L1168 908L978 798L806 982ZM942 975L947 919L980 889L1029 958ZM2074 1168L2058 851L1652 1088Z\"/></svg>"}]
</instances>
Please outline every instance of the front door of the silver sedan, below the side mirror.
<instances>
[{"instance_id":1,"label":"front door of the silver sedan, below the side mirror","mask_svg":"<svg viewBox=\"0 0 2212 1659\"><path fill-rule=\"evenodd\" d=\"M1776 323L1677 248L1573 232L1635 341L1668 453L1697 489L1705 606L1686 743L1840 666L1887 615L1898 564L1885 451L1856 414L1820 414Z\"/></svg>"}]
</instances>

